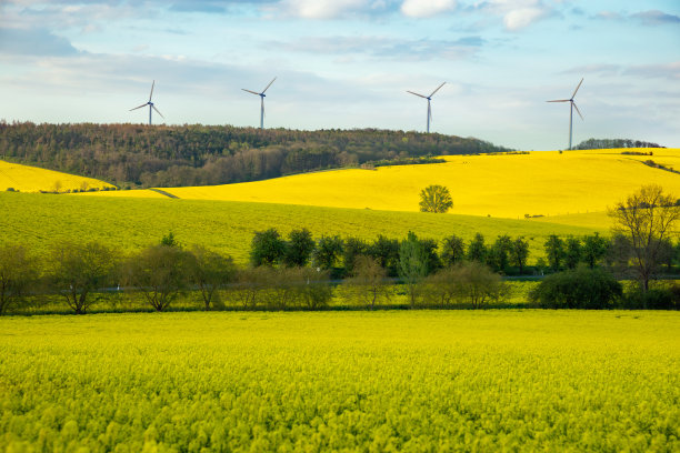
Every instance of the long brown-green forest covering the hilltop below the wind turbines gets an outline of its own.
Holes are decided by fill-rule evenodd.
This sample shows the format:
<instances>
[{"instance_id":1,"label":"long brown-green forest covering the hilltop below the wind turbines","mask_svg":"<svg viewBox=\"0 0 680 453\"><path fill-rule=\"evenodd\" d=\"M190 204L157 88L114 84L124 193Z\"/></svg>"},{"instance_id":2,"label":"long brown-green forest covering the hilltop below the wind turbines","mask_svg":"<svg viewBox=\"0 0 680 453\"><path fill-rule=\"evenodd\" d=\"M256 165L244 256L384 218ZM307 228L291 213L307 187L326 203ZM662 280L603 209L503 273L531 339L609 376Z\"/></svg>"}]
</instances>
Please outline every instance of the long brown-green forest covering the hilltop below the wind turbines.
<instances>
[{"instance_id":1,"label":"long brown-green forest covering the hilltop below the wind turbines","mask_svg":"<svg viewBox=\"0 0 680 453\"><path fill-rule=\"evenodd\" d=\"M121 189L226 184L386 160L504 151L478 139L377 129L0 121L0 159Z\"/></svg>"}]
</instances>

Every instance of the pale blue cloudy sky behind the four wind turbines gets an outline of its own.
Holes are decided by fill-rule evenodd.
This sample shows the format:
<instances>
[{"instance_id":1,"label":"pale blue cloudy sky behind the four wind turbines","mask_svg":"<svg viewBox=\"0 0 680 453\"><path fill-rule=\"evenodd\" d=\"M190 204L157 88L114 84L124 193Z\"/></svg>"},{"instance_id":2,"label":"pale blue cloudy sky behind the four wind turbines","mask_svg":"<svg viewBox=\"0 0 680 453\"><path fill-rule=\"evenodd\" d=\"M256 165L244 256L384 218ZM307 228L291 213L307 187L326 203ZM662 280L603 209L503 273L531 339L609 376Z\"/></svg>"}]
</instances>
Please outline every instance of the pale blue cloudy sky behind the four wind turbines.
<instances>
[{"instance_id":1,"label":"pale blue cloudy sky behind the four wind turbines","mask_svg":"<svg viewBox=\"0 0 680 453\"><path fill-rule=\"evenodd\" d=\"M680 148L680 0L0 0L0 119Z\"/></svg>"}]
</instances>

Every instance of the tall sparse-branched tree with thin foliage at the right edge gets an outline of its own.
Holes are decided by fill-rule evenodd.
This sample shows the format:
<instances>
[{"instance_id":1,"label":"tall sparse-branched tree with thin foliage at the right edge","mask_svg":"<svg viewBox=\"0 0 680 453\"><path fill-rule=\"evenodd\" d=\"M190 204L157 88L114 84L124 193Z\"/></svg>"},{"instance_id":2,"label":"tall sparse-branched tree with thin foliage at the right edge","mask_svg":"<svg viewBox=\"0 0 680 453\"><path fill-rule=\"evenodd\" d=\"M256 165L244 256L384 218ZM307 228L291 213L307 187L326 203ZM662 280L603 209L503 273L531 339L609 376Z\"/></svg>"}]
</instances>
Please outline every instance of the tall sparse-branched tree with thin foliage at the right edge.
<instances>
[{"instance_id":1,"label":"tall sparse-branched tree with thin foliage at the right edge","mask_svg":"<svg viewBox=\"0 0 680 453\"><path fill-rule=\"evenodd\" d=\"M673 234L680 218L677 198L664 194L657 184L643 185L609 211L613 233L628 239L628 256L632 260L642 291L661 264L663 241Z\"/></svg>"}]
</instances>

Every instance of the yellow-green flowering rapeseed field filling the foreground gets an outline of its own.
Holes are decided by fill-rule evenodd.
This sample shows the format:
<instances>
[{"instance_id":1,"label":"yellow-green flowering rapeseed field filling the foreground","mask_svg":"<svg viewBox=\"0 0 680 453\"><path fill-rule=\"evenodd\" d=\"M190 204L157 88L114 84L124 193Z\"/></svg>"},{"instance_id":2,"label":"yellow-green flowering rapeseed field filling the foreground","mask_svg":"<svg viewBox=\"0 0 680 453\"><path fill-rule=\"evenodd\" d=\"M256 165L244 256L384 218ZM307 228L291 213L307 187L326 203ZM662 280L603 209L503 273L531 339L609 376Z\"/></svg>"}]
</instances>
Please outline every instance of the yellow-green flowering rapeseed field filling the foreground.
<instances>
[{"instance_id":1,"label":"yellow-green flowering rapeseed field filling the foreground","mask_svg":"<svg viewBox=\"0 0 680 453\"><path fill-rule=\"evenodd\" d=\"M0 450L671 452L679 364L674 312L0 319Z\"/></svg>"}]
</instances>

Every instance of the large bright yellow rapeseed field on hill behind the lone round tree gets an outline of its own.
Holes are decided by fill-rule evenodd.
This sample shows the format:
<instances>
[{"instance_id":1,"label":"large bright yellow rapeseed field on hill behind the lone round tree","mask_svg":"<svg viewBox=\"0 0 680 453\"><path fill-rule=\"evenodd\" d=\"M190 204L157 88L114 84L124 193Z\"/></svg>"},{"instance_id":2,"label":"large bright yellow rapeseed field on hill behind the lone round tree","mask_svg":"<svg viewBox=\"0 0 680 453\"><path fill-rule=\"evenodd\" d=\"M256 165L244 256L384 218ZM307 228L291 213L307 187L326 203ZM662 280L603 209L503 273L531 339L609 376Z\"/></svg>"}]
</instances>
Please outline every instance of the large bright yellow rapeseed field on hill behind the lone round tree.
<instances>
[{"instance_id":1,"label":"large bright yellow rapeseed field on hill behind the lone round tree","mask_svg":"<svg viewBox=\"0 0 680 453\"><path fill-rule=\"evenodd\" d=\"M652 182L680 194L679 174L642 163L652 159L680 169L680 150L653 150L652 157L624 155L622 151L631 150L454 155L438 164L323 171L163 190L181 199L418 211L420 191L429 184L442 184L451 191L452 213L514 219L602 212Z\"/></svg>"}]
</instances>

